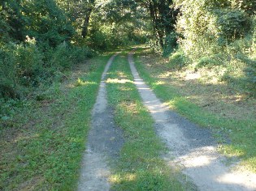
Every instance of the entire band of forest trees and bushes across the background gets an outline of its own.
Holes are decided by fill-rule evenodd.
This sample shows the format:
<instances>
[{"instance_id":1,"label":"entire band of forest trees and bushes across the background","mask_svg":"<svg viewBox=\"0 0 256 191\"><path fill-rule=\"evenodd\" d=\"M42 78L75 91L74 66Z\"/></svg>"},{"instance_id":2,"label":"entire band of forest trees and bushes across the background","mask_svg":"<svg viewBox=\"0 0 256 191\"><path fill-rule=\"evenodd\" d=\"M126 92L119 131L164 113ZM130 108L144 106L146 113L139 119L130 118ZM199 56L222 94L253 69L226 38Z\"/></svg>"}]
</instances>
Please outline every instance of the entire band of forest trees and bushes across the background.
<instances>
[{"instance_id":1,"label":"entire band of forest trees and bushes across the background","mask_svg":"<svg viewBox=\"0 0 256 191\"><path fill-rule=\"evenodd\" d=\"M0 9L2 98L28 96L86 57L132 43L255 89L251 0L3 0Z\"/></svg>"}]
</instances>

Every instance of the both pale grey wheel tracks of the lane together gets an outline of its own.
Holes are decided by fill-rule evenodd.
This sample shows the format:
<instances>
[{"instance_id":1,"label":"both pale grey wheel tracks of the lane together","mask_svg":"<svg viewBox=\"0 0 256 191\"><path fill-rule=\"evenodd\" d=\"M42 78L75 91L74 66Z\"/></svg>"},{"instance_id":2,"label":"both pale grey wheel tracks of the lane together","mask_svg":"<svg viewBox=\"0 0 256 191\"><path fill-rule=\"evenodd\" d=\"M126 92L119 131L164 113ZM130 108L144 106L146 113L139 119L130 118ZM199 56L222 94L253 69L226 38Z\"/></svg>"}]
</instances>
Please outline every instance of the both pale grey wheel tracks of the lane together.
<instances>
[{"instance_id":1,"label":"both pale grey wheel tracks of the lane together","mask_svg":"<svg viewBox=\"0 0 256 191\"><path fill-rule=\"evenodd\" d=\"M113 109L106 99L106 74L116 55L107 62L102 74L78 190L110 190L110 167L119 159L119 151L124 145L123 132L116 127ZM238 172L225 165L225 158L218 153L210 130L202 129L176 112L171 112L167 105L158 100L140 78L132 55L133 52L128 54L128 62L137 91L154 119L158 136L170 151L163 156L166 163L171 168L181 168L189 182L193 182L199 190L256 190L256 174Z\"/></svg>"}]
</instances>

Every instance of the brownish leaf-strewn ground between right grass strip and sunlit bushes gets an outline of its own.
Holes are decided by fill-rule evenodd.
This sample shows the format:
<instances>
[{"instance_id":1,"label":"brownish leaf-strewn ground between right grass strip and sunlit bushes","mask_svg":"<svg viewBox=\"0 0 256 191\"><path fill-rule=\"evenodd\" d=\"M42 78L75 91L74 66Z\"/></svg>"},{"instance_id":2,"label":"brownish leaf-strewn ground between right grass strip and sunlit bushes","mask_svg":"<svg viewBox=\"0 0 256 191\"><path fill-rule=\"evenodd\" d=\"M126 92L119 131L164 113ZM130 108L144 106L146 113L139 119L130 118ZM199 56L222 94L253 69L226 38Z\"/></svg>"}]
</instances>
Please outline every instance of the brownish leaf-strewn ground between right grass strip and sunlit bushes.
<instances>
[{"instance_id":1,"label":"brownish leaf-strewn ground between right grass strip and sunlit bushes","mask_svg":"<svg viewBox=\"0 0 256 191\"><path fill-rule=\"evenodd\" d=\"M205 75L191 71L175 74L170 71L159 75L158 79L163 79L167 88L176 88L173 91L208 112L215 112L217 115L221 113L226 118L255 118L255 100L249 99L246 92L232 90L227 83L219 82L219 76L208 79Z\"/></svg>"}]
</instances>

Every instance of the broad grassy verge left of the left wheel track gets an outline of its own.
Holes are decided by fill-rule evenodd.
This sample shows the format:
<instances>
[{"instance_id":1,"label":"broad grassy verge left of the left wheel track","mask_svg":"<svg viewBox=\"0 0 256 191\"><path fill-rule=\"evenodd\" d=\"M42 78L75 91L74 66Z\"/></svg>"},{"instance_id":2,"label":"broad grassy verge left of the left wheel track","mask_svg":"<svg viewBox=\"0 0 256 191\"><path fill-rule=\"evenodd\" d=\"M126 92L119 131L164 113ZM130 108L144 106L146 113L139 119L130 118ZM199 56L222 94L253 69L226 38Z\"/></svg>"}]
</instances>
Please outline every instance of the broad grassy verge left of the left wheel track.
<instances>
[{"instance_id":1,"label":"broad grassy verge left of the left wheel track","mask_svg":"<svg viewBox=\"0 0 256 191\"><path fill-rule=\"evenodd\" d=\"M43 98L9 105L15 115L0 121L0 190L76 189L90 111L108 58L80 65Z\"/></svg>"}]
</instances>

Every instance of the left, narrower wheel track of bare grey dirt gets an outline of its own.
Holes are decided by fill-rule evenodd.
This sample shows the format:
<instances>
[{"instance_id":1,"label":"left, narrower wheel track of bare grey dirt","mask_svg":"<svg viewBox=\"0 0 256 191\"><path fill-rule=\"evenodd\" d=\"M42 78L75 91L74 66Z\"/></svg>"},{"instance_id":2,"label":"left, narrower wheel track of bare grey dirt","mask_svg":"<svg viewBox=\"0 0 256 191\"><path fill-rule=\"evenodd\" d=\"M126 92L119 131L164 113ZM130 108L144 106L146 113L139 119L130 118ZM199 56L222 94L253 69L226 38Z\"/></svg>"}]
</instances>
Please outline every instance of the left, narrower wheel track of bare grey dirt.
<instances>
[{"instance_id":1,"label":"left, narrower wheel track of bare grey dirt","mask_svg":"<svg viewBox=\"0 0 256 191\"><path fill-rule=\"evenodd\" d=\"M93 108L93 121L89 131L87 150L82 161L78 190L109 190L110 161L115 161L123 145L122 131L115 127L111 108L106 100L106 73L115 59L111 57L102 74L102 82Z\"/></svg>"}]
</instances>

